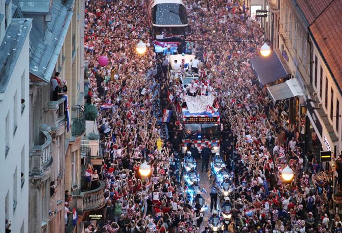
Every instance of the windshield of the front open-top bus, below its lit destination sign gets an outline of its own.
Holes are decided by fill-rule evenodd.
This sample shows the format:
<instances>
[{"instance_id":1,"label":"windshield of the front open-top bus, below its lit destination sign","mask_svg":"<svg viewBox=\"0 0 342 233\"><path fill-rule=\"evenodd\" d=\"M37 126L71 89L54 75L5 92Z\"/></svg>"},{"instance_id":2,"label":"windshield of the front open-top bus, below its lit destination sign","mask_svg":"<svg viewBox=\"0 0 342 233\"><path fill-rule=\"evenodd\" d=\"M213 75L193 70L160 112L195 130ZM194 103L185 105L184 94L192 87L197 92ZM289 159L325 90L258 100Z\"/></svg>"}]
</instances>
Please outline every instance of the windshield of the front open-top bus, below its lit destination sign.
<instances>
[{"instance_id":1,"label":"windshield of the front open-top bus, below its lit destination sign","mask_svg":"<svg viewBox=\"0 0 342 233\"><path fill-rule=\"evenodd\" d=\"M184 139L216 139L218 124L184 124Z\"/></svg>"}]
</instances>

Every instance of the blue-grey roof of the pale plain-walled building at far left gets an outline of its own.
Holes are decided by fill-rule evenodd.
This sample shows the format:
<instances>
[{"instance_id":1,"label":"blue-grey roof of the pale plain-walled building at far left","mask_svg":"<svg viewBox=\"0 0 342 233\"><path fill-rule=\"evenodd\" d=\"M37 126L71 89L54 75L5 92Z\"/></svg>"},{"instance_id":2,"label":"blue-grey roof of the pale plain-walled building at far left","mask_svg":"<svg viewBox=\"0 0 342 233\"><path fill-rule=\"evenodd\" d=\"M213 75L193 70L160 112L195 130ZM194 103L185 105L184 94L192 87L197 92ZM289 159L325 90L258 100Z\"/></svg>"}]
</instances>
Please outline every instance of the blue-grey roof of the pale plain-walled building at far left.
<instances>
[{"instance_id":1,"label":"blue-grey roof of the pale plain-walled building at far left","mask_svg":"<svg viewBox=\"0 0 342 233\"><path fill-rule=\"evenodd\" d=\"M0 93L6 90L31 25L30 18L13 18L6 31L0 45Z\"/></svg>"}]
</instances>

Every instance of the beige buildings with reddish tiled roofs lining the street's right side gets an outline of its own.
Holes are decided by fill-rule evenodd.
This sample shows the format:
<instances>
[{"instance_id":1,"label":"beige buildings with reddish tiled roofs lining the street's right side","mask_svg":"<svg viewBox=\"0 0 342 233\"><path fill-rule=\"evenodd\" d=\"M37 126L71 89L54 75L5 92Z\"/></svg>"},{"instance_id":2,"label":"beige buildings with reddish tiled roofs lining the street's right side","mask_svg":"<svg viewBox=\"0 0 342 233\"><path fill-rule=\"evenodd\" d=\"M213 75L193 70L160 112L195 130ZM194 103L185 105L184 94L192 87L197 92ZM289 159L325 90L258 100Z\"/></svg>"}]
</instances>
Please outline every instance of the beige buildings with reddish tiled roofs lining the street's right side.
<instances>
[{"instance_id":1,"label":"beige buildings with reddish tiled roofs lining the street's right side","mask_svg":"<svg viewBox=\"0 0 342 233\"><path fill-rule=\"evenodd\" d=\"M340 102L342 84L339 72L341 29L334 27L341 1L281 0L278 49L286 59L292 77L305 92L298 101L298 118L306 115L307 150L339 154L342 149ZM334 47L331 50L332 46ZM330 52L330 51L333 52ZM313 146L312 146L313 145Z\"/></svg>"}]
</instances>

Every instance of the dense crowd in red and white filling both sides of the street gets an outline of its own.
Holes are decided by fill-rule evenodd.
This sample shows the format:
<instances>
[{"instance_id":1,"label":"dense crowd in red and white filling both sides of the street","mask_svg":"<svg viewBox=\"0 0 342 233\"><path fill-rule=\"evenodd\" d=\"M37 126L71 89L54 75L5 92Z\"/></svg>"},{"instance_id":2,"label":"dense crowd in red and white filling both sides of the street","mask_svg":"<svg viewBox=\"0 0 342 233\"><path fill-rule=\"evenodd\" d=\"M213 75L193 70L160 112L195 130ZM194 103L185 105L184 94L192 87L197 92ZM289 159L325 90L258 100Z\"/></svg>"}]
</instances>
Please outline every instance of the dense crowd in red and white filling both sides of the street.
<instances>
[{"instance_id":1,"label":"dense crowd in red and white filling both sides of the street","mask_svg":"<svg viewBox=\"0 0 342 233\"><path fill-rule=\"evenodd\" d=\"M342 231L339 216L330 211L331 173L314 155L303 153L299 127L288 121L287 101L274 104L252 71L249 60L263 42L250 41L267 38L244 2L187 1L192 31L181 48L199 59L193 64L201 73L197 85L215 93L229 131L221 138L221 156L234 173L234 232ZM138 40L130 39L138 37L148 46L144 55L135 51ZM185 198L178 173L177 112L170 122L162 121L162 110L175 104L167 93L181 101L181 84L166 81L152 45L142 1L86 1L87 102L99 109L104 161L99 170L89 166L85 175L88 188L95 173L106 184L104 225L87 224L86 232L197 232L201 227L203 215ZM107 65L97 61L102 55ZM188 95L193 95L190 87ZM144 160L151 165L149 177L138 172ZM295 173L290 183L280 175L286 165Z\"/></svg>"}]
</instances>

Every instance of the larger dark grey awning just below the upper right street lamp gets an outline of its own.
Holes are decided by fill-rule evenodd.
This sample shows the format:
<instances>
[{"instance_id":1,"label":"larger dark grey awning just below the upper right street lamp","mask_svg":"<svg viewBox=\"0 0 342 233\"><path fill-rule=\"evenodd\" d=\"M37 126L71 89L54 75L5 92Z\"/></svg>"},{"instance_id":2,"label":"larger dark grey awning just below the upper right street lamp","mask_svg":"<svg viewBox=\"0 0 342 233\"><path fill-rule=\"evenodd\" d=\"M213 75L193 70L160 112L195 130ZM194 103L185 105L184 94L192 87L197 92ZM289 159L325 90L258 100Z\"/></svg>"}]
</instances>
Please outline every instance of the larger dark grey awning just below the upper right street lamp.
<instances>
[{"instance_id":1,"label":"larger dark grey awning just below the upper right street lamp","mask_svg":"<svg viewBox=\"0 0 342 233\"><path fill-rule=\"evenodd\" d=\"M262 85L285 78L289 75L274 51L268 57L258 56L251 59L251 62L254 72Z\"/></svg>"}]
</instances>

